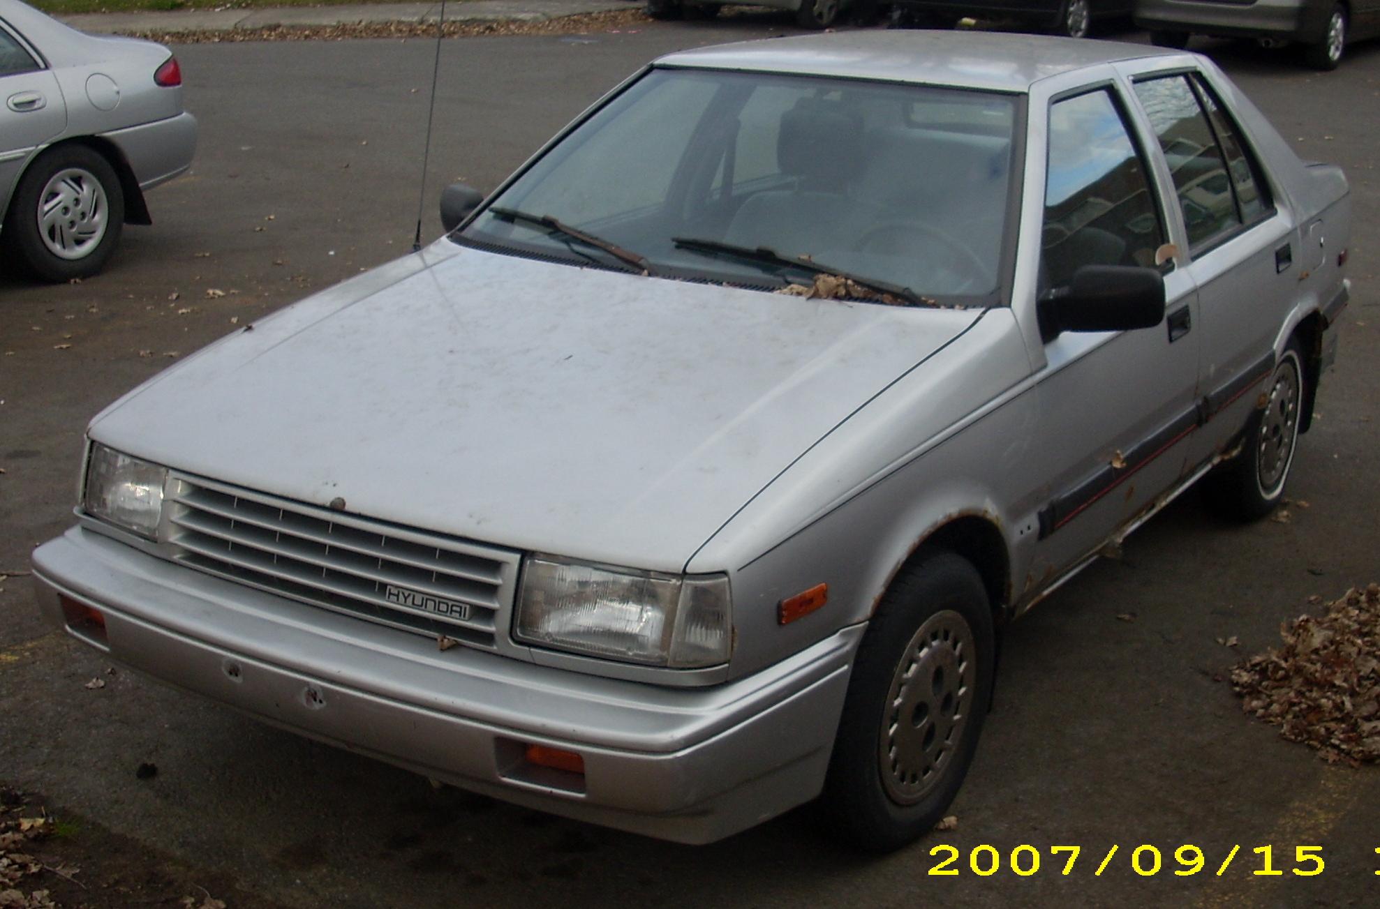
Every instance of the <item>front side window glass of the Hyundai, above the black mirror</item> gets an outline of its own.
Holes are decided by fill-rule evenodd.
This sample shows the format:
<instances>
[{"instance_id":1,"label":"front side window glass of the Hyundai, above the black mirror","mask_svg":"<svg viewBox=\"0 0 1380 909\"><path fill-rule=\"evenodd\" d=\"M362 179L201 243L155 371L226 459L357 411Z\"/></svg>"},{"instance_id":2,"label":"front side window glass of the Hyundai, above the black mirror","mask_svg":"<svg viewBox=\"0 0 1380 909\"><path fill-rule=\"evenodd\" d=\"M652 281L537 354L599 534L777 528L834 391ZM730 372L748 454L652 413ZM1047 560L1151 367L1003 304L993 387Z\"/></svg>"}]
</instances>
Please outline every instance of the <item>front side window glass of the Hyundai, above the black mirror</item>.
<instances>
[{"instance_id":1,"label":"front side window glass of the Hyundai, above the black mirror","mask_svg":"<svg viewBox=\"0 0 1380 909\"><path fill-rule=\"evenodd\" d=\"M1107 90L1056 102L1041 234L1042 291L1083 265L1154 266L1163 225L1145 166Z\"/></svg>"}]
</instances>

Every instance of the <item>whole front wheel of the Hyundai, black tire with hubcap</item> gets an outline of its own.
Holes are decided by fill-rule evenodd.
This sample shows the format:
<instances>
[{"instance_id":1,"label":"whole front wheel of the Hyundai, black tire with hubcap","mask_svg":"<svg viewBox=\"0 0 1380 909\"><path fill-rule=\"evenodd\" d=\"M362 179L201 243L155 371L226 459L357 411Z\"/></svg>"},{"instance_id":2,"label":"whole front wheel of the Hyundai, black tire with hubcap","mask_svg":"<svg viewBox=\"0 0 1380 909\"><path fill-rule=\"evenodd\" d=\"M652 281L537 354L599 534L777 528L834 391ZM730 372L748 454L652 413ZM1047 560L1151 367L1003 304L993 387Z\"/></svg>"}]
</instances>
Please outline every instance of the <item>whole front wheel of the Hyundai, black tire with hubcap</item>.
<instances>
[{"instance_id":1,"label":"whole front wheel of the Hyundai, black tire with hubcap","mask_svg":"<svg viewBox=\"0 0 1380 909\"><path fill-rule=\"evenodd\" d=\"M983 731L994 654L992 610L967 560L931 550L903 570L858 646L824 783L821 807L845 840L887 852L944 817Z\"/></svg>"}]
</instances>

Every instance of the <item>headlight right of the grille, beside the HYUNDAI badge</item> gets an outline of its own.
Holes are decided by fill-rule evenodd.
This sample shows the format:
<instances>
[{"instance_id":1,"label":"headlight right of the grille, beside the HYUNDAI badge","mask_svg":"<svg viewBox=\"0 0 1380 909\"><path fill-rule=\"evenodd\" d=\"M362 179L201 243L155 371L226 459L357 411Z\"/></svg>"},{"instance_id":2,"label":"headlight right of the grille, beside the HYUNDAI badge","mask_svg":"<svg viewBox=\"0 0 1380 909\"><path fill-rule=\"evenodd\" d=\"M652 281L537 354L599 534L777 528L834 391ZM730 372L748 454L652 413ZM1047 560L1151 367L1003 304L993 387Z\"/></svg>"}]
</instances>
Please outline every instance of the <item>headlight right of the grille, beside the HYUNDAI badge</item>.
<instances>
[{"instance_id":1,"label":"headlight right of the grille, beside the HYUNDAI badge","mask_svg":"<svg viewBox=\"0 0 1380 909\"><path fill-rule=\"evenodd\" d=\"M609 571L530 557L516 637L595 657L689 669L727 662L729 578Z\"/></svg>"}]
</instances>

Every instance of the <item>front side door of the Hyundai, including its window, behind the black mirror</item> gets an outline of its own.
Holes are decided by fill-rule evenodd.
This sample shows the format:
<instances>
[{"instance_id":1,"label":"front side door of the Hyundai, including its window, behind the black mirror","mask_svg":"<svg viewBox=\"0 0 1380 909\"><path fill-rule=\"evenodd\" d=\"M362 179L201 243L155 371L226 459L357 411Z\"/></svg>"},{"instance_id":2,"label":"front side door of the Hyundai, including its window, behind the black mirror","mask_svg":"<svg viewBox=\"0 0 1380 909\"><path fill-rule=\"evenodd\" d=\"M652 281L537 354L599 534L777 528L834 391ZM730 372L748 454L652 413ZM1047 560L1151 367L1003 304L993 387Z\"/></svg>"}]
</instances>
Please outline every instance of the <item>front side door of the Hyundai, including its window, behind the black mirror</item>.
<instances>
[{"instance_id":1,"label":"front side door of the Hyundai, including its window, behind the black mirror","mask_svg":"<svg viewBox=\"0 0 1380 909\"><path fill-rule=\"evenodd\" d=\"M1083 265L1163 268L1169 317L1154 328L1064 332L1046 341L1035 579L1096 552L1150 509L1184 472L1198 383L1196 291L1165 258L1163 210L1147 159L1111 86L1056 99L1049 110L1041 292Z\"/></svg>"}]
</instances>

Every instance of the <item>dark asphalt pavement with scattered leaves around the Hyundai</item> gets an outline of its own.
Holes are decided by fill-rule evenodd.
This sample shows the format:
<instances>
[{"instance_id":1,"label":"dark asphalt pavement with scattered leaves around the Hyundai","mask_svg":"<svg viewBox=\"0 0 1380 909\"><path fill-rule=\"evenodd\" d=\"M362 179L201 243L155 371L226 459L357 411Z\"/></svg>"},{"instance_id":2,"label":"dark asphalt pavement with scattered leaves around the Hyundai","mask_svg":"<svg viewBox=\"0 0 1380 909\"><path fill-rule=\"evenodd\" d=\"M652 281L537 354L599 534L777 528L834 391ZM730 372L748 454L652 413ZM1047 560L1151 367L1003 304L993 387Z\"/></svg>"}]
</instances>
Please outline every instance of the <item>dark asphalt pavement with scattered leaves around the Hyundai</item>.
<instances>
[{"instance_id":1,"label":"dark asphalt pavement with scattered leaves around the Hyundai","mask_svg":"<svg viewBox=\"0 0 1380 909\"><path fill-rule=\"evenodd\" d=\"M25 568L70 523L83 428L108 403L236 324L406 254L418 194L424 234L437 236L444 183L493 188L647 59L782 30L788 15L763 14L448 40L421 193L431 43L178 47L201 143L188 177L149 194L153 226L128 229L109 270L81 284L0 276L0 572ZM22 577L0 582L0 778L150 861L232 881L215 894L232 908L237 894L341 908L1376 905L1380 768L1328 766L1279 739L1223 679L1278 643L1311 595L1380 579L1380 46L1354 48L1330 74L1252 46L1202 47L1303 157L1351 178L1352 302L1289 490L1308 508L1242 527L1184 497L1122 559L1016 623L956 830L861 858L799 810L690 848L433 790L105 675L99 654L40 621ZM86 688L92 677L108 684ZM157 775L141 778L144 763ZM956 876L929 873L944 844L965 857ZM967 855L983 844L1003 857L1031 844L1046 861L1031 876L1005 859L980 876ZM1141 844L1161 851L1159 873L1132 868ZM1185 844L1203 850L1206 872L1173 873ZM1081 847L1070 875L1050 863L1053 846ZM1267 846L1283 875L1253 873ZM1322 875L1289 873L1299 846L1322 847ZM1232 847L1235 863L1214 875Z\"/></svg>"}]
</instances>

